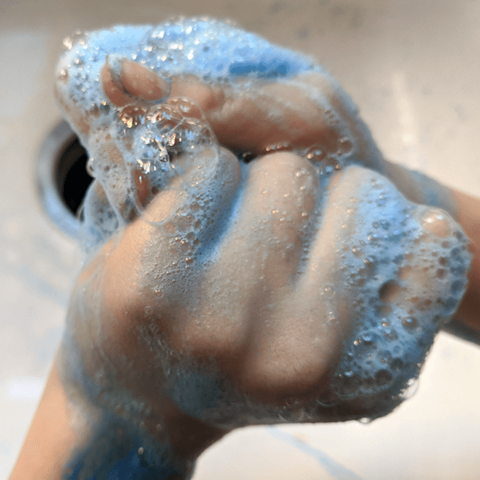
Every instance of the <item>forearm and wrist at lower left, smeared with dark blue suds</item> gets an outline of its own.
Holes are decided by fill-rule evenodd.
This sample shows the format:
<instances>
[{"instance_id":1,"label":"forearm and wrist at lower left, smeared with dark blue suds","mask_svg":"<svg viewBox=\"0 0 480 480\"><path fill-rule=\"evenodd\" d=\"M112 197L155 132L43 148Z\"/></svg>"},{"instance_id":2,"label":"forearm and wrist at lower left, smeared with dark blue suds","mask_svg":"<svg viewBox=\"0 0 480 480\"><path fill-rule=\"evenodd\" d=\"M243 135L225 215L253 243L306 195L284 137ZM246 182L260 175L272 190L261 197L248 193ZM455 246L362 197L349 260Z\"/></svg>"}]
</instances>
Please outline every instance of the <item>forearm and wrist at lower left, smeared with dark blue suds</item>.
<instances>
[{"instance_id":1,"label":"forearm and wrist at lower left, smeared with dark blue suds","mask_svg":"<svg viewBox=\"0 0 480 480\"><path fill-rule=\"evenodd\" d=\"M225 433L167 399L161 418L149 412L143 421L120 405L109 411L72 400L59 370L56 360L10 480L187 479L196 457Z\"/></svg>"}]
</instances>

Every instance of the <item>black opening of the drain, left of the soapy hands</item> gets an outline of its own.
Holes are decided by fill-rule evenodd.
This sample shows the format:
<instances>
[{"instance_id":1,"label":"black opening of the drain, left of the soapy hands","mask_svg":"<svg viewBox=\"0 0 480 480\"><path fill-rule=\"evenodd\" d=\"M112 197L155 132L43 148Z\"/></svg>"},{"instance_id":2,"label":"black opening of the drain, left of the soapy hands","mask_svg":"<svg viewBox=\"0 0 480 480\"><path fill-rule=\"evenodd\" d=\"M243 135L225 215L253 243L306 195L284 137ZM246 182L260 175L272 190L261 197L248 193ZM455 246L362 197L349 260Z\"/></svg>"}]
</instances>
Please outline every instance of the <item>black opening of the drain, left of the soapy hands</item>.
<instances>
[{"instance_id":1,"label":"black opening of the drain, left of the soapy hands","mask_svg":"<svg viewBox=\"0 0 480 480\"><path fill-rule=\"evenodd\" d=\"M88 154L77 136L67 144L58 158L56 184L64 203L74 214L82 204L93 178L86 173Z\"/></svg>"}]
</instances>

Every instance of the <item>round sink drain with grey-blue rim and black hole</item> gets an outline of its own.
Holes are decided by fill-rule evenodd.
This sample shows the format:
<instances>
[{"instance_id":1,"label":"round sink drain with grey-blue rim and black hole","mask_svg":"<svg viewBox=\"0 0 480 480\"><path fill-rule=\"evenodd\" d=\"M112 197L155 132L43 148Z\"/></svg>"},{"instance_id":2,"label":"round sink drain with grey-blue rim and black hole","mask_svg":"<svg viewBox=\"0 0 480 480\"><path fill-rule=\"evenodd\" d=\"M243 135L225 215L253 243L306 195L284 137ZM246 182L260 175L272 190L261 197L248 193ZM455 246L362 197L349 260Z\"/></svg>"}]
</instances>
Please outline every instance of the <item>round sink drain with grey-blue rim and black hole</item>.
<instances>
[{"instance_id":1,"label":"round sink drain with grey-blue rim and black hole","mask_svg":"<svg viewBox=\"0 0 480 480\"><path fill-rule=\"evenodd\" d=\"M67 122L54 128L38 155L37 180L43 208L60 230L76 237L79 207L93 178L88 154Z\"/></svg>"}]
</instances>

